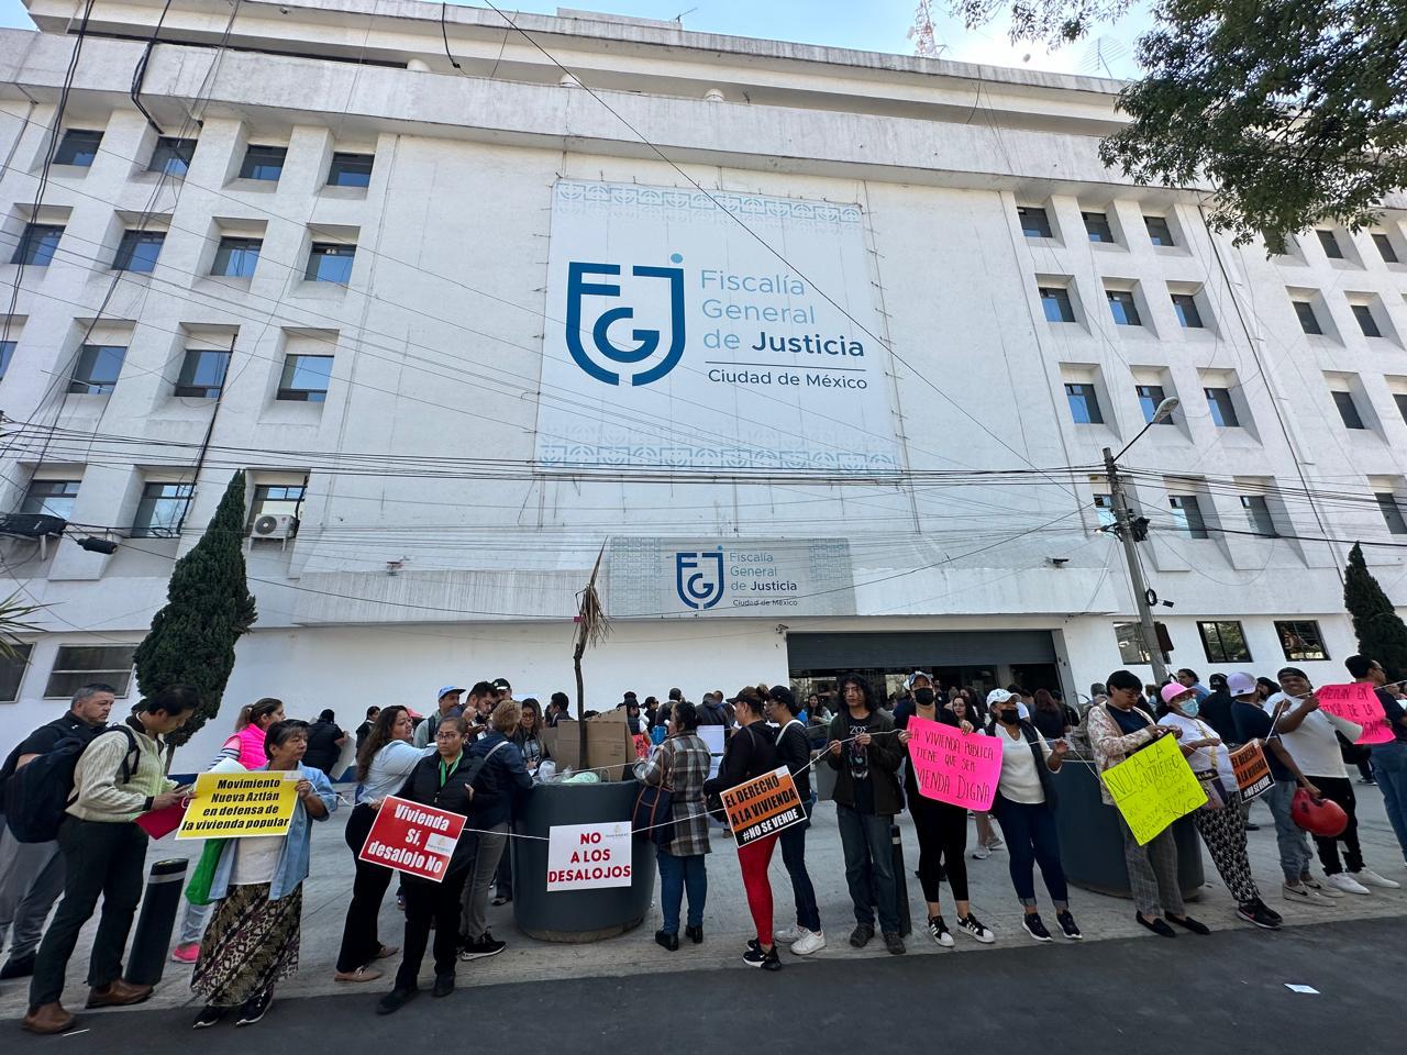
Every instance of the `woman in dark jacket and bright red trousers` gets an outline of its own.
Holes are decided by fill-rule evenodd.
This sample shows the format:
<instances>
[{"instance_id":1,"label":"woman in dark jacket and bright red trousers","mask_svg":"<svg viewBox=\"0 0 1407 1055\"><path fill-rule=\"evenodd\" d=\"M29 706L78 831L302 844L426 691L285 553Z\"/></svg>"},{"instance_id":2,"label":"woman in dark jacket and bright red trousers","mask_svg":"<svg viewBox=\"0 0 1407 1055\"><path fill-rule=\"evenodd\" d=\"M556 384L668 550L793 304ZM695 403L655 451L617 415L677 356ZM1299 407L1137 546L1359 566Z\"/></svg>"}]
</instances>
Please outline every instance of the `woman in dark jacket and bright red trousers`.
<instances>
[{"instance_id":1,"label":"woman in dark jacket and bright red trousers","mask_svg":"<svg viewBox=\"0 0 1407 1055\"><path fill-rule=\"evenodd\" d=\"M718 776L704 785L705 795L720 795L729 788L770 774L779 764L777 758L777 731L763 717L763 698L751 685L739 691L729 701L737 715L739 729L723 748ZM782 961L772 944L772 886L767 879L767 865L777 848L777 834L771 831L754 838L746 847L737 848L737 864L743 869L743 889L747 890L747 907L757 927L757 941L749 942L743 962L764 971L781 971Z\"/></svg>"}]
</instances>

